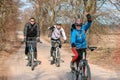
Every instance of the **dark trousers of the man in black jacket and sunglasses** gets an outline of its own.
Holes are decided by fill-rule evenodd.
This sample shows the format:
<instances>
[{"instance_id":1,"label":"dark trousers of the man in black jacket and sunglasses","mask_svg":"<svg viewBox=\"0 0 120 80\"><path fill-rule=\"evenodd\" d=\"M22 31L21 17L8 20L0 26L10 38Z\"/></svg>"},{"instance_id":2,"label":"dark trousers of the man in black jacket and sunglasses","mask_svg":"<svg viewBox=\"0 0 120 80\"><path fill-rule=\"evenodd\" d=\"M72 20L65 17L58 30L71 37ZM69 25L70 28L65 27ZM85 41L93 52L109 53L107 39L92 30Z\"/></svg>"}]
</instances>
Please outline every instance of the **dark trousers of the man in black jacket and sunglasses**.
<instances>
[{"instance_id":1,"label":"dark trousers of the man in black jacket and sunglasses","mask_svg":"<svg viewBox=\"0 0 120 80\"><path fill-rule=\"evenodd\" d=\"M26 42L25 44L25 55L28 55L29 45L31 44L34 50L34 58L37 59L37 41L36 39L26 39L26 41L32 41L33 43Z\"/></svg>"}]
</instances>

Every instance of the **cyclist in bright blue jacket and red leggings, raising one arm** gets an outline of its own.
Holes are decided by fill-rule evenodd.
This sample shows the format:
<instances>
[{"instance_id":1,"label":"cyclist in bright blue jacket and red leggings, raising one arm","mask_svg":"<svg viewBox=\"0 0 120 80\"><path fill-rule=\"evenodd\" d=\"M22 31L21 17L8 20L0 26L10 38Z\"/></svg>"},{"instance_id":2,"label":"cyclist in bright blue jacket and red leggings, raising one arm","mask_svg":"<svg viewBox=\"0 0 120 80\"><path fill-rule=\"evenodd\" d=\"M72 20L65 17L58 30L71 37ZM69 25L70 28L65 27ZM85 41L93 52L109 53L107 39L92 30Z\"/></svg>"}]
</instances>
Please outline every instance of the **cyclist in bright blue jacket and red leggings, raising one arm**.
<instances>
[{"instance_id":1,"label":"cyclist in bright blue jacket and red leggings, raising one arm","mask_svg":"<svg viewBox=\"0 0 120 80\"><path fill-rule=\"evenodd\" d=\"M83 25L81 19L76 19L74 24L75 27L73 26L71 29L70 42L72 52L75 55L70 64L71 69L74 69L74 62L78 59L82 59L82 53L86 52L86 31L90 28L92 19L89 13L85 12L85 15L87 17L87 22Z\"/></svg>"}]
</instances>

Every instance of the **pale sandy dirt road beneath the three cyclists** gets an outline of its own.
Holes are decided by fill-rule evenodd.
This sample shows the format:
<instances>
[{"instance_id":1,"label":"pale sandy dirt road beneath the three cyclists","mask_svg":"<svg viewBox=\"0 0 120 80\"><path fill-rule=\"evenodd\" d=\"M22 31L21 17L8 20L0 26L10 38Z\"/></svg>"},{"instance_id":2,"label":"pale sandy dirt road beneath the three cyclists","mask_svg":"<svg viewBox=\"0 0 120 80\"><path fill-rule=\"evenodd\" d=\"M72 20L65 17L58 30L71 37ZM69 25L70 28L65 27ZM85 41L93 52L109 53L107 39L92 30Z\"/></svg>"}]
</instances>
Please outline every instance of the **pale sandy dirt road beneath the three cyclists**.
<instances>
[{"instance_id":1,"label":"pale sandy dirt road beneath the three cyclists","mask_svg":"<svg viewBox=\"0 0 120 80\"><path fill-rule=\"evenodd\" d=\"M24 60L24 45L17 53L7 59L5 65L8 66L8 80L72 80L70 73L71 53L68 49L61 49L61 56L64 62L61 67L50 65L49 61L50 44L43 42L38 44L38 59L42 62L35 67L34 71L26 66ZM96 65L90 65L92 80L120 80L120 73L100 68Z\"/></svg>"}]
</instances>

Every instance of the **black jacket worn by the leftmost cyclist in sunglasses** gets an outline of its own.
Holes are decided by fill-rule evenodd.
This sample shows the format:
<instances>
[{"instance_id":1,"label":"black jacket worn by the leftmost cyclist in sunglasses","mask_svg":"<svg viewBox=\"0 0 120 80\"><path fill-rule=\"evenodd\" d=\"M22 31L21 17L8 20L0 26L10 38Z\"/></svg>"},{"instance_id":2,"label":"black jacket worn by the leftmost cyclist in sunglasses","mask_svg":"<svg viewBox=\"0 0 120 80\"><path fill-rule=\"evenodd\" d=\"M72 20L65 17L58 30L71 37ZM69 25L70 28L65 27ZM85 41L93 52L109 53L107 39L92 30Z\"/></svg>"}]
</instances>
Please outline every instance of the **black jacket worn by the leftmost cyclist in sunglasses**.
<instances>
[{"instance_id":1,"label":"black jacket worn by the leftmost cyclist in sunglasses","mask_svg":"<svg viewBox=\"0 0 120 80\"><path fill-rule=\"evenodd\" d=\"M29 22L25 24L24 36L26 37L40 37L40 27L38 23L31 25Z\"/></svg>"}]
</instances>

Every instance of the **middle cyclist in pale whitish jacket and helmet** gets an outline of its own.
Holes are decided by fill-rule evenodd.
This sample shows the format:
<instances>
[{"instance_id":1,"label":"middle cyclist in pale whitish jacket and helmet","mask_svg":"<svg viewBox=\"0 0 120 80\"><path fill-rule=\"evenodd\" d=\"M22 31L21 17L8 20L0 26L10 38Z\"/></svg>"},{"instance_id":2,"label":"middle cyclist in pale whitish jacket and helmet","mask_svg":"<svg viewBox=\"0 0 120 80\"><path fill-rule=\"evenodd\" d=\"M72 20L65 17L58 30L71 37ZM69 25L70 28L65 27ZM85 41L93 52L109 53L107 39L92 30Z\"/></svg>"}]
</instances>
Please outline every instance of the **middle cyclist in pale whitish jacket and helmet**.
<instances>
[{"instance_id":1,"label":"middle cyclist in pale whitish jacket and helmet","mask_svg":"<svg viewBox=\"0 0 120 80\"><path fill-rule=\"evenodd\" d=\"M50 59L51 59L51 64L54 64L53 61L53 50L54 50L54 46L55 46L55 41L60 41L60 45L59 47L61 48L61 40L60 37L62 36L64 39L64 43L66 42L66 34L64 29L62 28L62 24L61 22L56 22L56 24L52 27L48 28L51 33L49 35L49 37L51 37L51 50L50 50Z\"/></svg>"}]
</instances>

